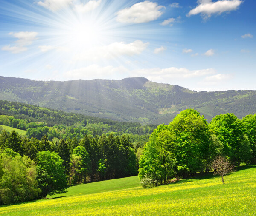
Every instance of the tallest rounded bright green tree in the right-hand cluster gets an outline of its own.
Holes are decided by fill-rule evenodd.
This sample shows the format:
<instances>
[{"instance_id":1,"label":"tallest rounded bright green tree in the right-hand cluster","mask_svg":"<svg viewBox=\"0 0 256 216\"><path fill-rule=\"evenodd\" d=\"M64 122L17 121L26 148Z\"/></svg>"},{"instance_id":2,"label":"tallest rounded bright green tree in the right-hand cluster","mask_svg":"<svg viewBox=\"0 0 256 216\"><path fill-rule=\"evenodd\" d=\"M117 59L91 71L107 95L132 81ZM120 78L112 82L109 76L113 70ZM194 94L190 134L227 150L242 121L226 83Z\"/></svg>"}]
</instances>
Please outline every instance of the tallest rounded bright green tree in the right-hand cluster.
<instances>
[{"instance_id":1,"label":"tallest rounded bright green tree in the right-hand cluster","mask_svg":"<svg viewBox=\"0 0 256 216\"><path fill-rule=\"evenodd\" d=\"M186 109L177 114L169 126L176 136L177 175L186 177L204 171L211 154L206 119L198 111Z\"/></svg>"}]
</instances>

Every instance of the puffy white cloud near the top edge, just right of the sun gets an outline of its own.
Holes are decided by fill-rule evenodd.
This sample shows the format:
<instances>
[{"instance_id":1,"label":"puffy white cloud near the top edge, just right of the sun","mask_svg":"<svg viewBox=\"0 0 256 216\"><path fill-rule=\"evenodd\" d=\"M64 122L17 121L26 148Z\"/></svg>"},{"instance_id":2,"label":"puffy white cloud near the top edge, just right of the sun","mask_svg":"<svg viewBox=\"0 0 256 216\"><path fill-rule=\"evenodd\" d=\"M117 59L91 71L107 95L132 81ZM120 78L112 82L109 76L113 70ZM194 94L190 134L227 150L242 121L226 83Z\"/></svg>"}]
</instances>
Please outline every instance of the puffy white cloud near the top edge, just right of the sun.
<instances>
[{"instance_id":1,"label":"puffy white cloud near the top edge, just right of the sun","mask_svg":"<svg viewBox=\"0 0 256 216\"><path fill-rule=\"evenodd\" d=\"M165 7L154 2L144 1L118 11L116 20L121 23L148 23L157 20L163 14L162 9Z\"/></svg>"}]
</instances>

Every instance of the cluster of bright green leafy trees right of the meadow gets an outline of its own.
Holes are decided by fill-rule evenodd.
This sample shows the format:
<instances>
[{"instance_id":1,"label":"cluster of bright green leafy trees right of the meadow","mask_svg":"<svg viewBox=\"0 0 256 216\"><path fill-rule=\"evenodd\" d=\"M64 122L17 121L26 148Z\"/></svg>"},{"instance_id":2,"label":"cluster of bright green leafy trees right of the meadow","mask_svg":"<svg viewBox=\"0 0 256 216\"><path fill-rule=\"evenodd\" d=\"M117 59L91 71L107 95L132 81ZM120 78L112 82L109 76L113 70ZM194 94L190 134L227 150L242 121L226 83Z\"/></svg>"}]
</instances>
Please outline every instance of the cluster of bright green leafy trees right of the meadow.
<instances>
[{"instance_id":1,"label":"cluster of bright green leafy trees right of the meadow","mask_svg":"<svg viewBox=\"0 0 256 216\"><path fill-rule=\"evenodd\" d=\"M159 125L145 144L139 161L142 184L160 185L211 170L218 156L234 165L256 163L256 114L242 120L218 115L208 124L194 109L186 109Z\"/></svg>"}]
</instances>

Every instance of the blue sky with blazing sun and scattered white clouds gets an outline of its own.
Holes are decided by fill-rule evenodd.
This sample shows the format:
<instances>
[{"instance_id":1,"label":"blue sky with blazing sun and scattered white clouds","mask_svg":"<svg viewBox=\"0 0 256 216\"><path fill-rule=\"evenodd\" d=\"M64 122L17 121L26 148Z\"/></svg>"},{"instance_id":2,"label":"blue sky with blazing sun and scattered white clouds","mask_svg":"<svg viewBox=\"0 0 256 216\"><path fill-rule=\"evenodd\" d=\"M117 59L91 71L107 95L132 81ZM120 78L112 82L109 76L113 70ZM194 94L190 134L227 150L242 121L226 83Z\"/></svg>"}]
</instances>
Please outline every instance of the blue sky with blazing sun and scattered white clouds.
<instances>
[{"instance_id":1,"label":"blue sky with blazing sun and scattered white clouds","mask_svg":"<svg viewBox=\"0 0 256 216\"><path fill-rule=\"evenodd\" d=\"M0 0L0 76L256 90L255 0Z\"/></svg>"}]
</instances>

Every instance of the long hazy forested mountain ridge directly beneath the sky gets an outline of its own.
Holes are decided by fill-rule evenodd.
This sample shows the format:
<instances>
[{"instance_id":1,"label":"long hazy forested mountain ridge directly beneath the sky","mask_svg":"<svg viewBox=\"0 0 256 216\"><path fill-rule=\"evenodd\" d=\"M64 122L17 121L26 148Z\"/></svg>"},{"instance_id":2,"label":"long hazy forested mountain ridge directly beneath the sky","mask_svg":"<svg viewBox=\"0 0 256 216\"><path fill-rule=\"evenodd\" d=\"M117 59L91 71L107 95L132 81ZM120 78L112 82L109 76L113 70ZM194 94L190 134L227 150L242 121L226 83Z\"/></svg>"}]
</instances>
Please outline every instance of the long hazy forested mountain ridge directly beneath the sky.
<instances>
[{"instance_id":1,"label":"long hazy forested mountain ridge directly beneath the sky","mask_svg":"<svg viewBox=\"0 0 256 216\"><path fill-rule=\"evenodd\" d=\"M208 122L226 112L240 119L256 113L256 91L197 92L178 85L151 82L144 77L60 82L0 76L0 99L152 124L167 124L186 108L195 108Z\"/></svg>"}]
</instances>

